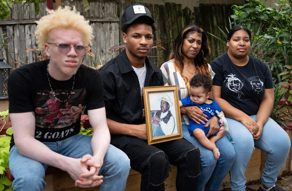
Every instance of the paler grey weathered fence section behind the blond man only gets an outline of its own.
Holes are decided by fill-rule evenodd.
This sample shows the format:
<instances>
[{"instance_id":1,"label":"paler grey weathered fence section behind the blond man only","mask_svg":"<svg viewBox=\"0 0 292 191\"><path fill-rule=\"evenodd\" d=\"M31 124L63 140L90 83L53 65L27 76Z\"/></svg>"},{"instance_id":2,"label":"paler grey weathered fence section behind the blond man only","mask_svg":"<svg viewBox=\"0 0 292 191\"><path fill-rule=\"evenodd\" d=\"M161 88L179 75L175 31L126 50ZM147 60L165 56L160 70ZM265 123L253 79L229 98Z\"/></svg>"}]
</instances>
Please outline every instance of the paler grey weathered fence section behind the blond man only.
<instances>
[{"instance_id":1,"label":"paler grey weathered fence section behind the blond man only","mask_svg":"<svg viewBox=\"0 0 292 191\"><path fill-rule=\"evenodd\" d=\"M110 58L109 47L119 44L119 17L117 15L117 3L92 2L90 10L84 11L84 4L79 1L65 1L62 6L75 6L77 11L84 15L93 28L94 38L92 40L92 51L98 64ZM0 21L0 33L6 32L8 51L8 64L14 67L14 59L21 65L35 61L32 51L26 49L37 48L34 33L36 24L40 17L46 15L46 3L39 3L39 14L35 15L34 3L14 4L12 19ZM19 52L18 52L19 51ZM19 53L19 55L18 55ZM4 53L7 54L7 53ZM115 56L114 53L113 56ZM100 59L99 59L100 56Z\"/></svg>"}]
</instances>

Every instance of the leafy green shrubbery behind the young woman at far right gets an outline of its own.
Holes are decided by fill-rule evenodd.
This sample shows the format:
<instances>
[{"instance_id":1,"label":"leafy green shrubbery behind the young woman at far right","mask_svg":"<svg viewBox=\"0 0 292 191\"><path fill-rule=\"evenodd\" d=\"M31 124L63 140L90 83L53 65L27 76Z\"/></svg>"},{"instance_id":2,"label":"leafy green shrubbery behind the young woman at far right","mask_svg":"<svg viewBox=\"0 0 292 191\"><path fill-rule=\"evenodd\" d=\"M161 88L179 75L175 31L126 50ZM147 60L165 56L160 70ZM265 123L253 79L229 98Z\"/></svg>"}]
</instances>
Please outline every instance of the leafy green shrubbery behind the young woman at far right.
<instances>
[{"instance_id":1,"label":"leafy green shrubbery behind the young woman at far right","mask_svg":"<svg viewBox=\"0 0 292 191\"><path fill-rule=\"evenodd\" d=\"M286 96L286 102L292 103L292 3L286 0L274 2L276 8L270 8L258 0L248 0L243 6L233 5L232 24L247 26L251 38L251 54L270 66L275 84L282 85L279 95ZM280 76L282 78L280 79Z\"/></svg>"}]
</instances>

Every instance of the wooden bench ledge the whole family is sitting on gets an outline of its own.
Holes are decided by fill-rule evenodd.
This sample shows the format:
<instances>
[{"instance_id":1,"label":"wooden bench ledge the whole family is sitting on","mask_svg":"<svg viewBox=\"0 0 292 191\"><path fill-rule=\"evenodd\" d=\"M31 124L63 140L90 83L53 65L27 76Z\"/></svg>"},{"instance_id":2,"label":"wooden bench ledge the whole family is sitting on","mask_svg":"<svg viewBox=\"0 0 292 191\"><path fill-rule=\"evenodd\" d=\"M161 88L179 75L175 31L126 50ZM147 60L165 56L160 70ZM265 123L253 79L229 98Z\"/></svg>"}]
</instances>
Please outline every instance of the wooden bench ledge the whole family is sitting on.
<instances>
[{"instance_id":1,"label":"wooden bench ledge the whole family is sitting on","mask_svg":"<svg viewBox=\"0 0 292 191\"><path fill-rule=\"evenodd\" d=\"M83 117L84 119L84 117ZM84 125L89 125L89 121L85 121ZM292 124L291 124L292 128ZM292 130L284 128L286 130L287 134L290 137L290 140L292 140ZM288 154L288 157L286 159L286 162L284 163L279 176L282 175L282 171L292 170L292 156L291 156L291 148ZM253 154L251 156L251 160L248 162L247 170L245 172L245 176L247 181L253 181L258 180L261 178L261 174L263 173L263 169L265 167L265 159L266 159L265 152L261 151L260 149L256 148L253 151ZM13 181L13 176L10 174L9 169L7 170L7 177L10 181ZM175 188L175 177L177 168L175 166L171 166L172 172L169 173L169 177L165 181L165 190L166 191L176 191ZM229 181L229 174L225 177L223 183L225 181ZM65 171L62 171L60 169L49 167L46 170L46 176L45 181L47 183L45 191L90 191L90 190L99 190L96 188L77 188L75 187L74 181L69 176L69 174ZM126 184L125 191L139 191L140 190L140 182L141 182L141 174L137 171L134 171L133 169L129 172L129 177ZM221 186L220 190L223 187Z\"/></svg>"}]
</instances>

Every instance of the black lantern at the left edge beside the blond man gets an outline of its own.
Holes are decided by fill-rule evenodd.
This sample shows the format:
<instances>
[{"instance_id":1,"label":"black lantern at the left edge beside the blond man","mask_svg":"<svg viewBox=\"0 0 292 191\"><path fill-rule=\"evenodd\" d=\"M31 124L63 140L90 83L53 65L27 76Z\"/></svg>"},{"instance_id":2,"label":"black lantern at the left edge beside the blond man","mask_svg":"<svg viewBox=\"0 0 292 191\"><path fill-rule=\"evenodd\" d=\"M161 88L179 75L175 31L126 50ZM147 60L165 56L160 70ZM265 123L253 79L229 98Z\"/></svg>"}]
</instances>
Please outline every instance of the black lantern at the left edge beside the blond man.
<instances>
[{"instance_id":1,"label":"black lantern at the left edge beside the blond man","mask_svg":"<svg viewBox=\"0 0 292 191\"><path fill-rule=\"evenodd\" d=\"M12 67L6 64L3 58L0 58L0 99L8 98L7 81L10 68Z\"/></svg>"}]
</instances>

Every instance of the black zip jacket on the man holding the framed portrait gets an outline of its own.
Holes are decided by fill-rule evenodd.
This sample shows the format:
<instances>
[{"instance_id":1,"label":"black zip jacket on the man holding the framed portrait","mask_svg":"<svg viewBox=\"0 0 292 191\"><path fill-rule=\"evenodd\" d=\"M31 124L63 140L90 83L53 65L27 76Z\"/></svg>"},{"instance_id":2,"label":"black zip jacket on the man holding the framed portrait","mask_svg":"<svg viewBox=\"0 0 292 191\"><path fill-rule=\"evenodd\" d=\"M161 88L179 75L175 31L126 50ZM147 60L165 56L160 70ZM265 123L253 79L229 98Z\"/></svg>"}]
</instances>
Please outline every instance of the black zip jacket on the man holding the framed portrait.
<instances>
[{"instance_id":1,"label":"black zip jacket on the man holding the framed portrait","mask_svg":"<svg viewBox=\"0 0 292 191\"><path fill-rule=\"evenodd\" d=\"M161 70L148 57L145 85L163 86ZM145 122L143 101L138 77L123 50L117 57L102 66L100 73L104 87L107 118L119 123L139 125Z\"/></svg>"}]
</instances>

